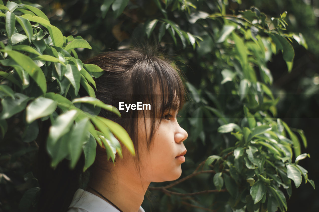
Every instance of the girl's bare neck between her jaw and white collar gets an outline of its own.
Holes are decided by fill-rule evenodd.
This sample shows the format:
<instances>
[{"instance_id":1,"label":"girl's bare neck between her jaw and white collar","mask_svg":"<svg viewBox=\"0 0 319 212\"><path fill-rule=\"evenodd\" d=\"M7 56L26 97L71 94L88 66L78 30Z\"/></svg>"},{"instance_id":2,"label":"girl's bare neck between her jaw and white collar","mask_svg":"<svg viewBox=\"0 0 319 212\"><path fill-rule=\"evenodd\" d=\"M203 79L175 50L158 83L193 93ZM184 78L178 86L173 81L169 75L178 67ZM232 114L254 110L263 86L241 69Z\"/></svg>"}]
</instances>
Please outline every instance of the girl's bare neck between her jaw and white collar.
<instances>
[{"instance_id":1,"label":"girl's bare neck between her jaw and white collar","mask_svg":"<svg viewBox=\"0 0 319 212\"><path fill-rule=\"evenodd\" d=\"M112 167L111 167L112 166ZM110 170L93 172L89 186L94 188L124 212L137 212L150 182L142 181L136 170L116 162ZM90 192L96 194L92 190ZM96 194L100 196L99 194Z\"/></svg>"}]
</instances>

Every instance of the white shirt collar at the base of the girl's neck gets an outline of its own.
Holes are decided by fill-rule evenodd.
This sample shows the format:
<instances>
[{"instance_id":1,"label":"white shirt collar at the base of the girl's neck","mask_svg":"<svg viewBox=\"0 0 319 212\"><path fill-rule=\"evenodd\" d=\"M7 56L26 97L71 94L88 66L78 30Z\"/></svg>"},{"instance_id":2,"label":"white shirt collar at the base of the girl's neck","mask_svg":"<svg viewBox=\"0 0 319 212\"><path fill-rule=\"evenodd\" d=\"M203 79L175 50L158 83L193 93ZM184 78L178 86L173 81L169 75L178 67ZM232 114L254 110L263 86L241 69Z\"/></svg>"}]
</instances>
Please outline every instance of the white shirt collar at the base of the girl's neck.
<instances>
[{"instance_id":1,"label":"white shirt collar at the base of the girl's neck","mask_svg":"<svg viewBox=\"0 0 319 212\"><path fill-rule=\"evenodd\" d=\"M119 212L104 199L79 188L69 206L68 212ZM145 212L140 206L137 212Z\"/></svg>"}]
</instances>

